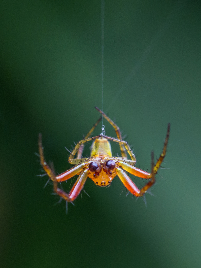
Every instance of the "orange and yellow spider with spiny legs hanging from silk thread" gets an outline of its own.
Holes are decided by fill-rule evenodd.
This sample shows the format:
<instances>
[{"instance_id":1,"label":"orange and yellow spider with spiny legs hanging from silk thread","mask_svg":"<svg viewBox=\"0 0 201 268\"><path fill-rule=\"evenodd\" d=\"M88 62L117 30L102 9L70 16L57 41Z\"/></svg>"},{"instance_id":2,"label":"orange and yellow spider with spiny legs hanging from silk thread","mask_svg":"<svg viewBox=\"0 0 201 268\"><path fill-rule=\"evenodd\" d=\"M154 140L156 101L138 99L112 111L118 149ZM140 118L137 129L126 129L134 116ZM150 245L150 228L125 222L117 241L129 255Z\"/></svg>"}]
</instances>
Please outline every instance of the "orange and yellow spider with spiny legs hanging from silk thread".
<instances>
[{"instance_id":1,"label":"orange and yellow spider with spiny legs hanging from silk thread","mask_svg":"<svg viewBox=\"0 0 201 268\"><path fill-rule=\"evenodd\" d=\"M88 132L83 140L80 140L72 152L70 152L70 156L68 162L73 164L74 167L66 170L65 172L55 175L55 171L52 166L48 166L46 161L44 160L43 147L42 147L42 135L39 134L39 153L40 153L40 163L47 173L49 178L53 181L54 192L59 195L61 198L66 200L67 202L73 202L81 192L84 187L84 184L89 177L94 183L98 186L105 187L111 184L111 181L114 177L118 176L124 186L128 189L132 195L137 197L143 196L144 193L155 183L155 174L157 173L161 163L166 154L166 148L169 139L170 133L170 124L168 124L167 134L165 143L163 146L162 154L157 160L156 164L154 164L154 153L151 152L151 173L148 173L144 170L135 167L136 158L133 154L131 148L128 143L122 140L121 132L119 127L98 107L95 107L103 117L113 126L115 129L117 138L112 138L106 136L105 133L101 133L98 136L90 137L91 133L94 131L95 127L101 121L102 116L98 119L92 129ZM89 158L83 158L82 153L84 149L84 144L86 142L93 141L91 146L91 155ZM110 141L116 142L120 146L121 157L113 157L111 152ZM127 158L127 153L129 154L131 159ZM77 154L77 157L75 157ZM131 180L131 178L126 174L129 172L137 177L141 177L144 179L149 179L148 183L142 187L141 189L137 188L135 183ZM66 193L62 189L60 189L57 184L62 181L66 181L72 178L75 175L79 175L75 184L69 193Z\"/></svg>"}]
</instances>

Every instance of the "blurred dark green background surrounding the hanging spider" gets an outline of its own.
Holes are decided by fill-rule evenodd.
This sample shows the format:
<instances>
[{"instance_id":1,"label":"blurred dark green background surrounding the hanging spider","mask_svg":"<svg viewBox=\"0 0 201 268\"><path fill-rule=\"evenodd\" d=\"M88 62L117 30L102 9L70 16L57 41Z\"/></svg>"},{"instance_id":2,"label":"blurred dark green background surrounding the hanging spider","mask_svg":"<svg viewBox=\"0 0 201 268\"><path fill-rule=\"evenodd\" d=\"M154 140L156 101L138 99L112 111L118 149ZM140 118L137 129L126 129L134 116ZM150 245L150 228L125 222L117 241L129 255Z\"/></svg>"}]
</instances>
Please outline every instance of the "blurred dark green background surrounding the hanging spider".
<instances>
[{"instance_id":1,"label":"blurred dark green background surrounding the hanging spider","mask_svg":"<svg viewBox=\"0 0 201 268\"><path fill-rule=\"evenodd\" d=\"M105 1L103 110L145 170L170 122L167 169L147 207L118 178L109 188L88 179L90 198L83 192L67 215L36 177L34 152L41 132L46 160L63 172L64 146L99 117L101 1L1 1L0 10L1 267L200 267L200 1Z\"/></svg>"}]
</instances>

